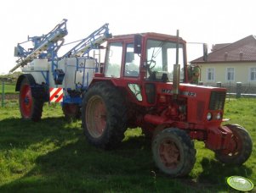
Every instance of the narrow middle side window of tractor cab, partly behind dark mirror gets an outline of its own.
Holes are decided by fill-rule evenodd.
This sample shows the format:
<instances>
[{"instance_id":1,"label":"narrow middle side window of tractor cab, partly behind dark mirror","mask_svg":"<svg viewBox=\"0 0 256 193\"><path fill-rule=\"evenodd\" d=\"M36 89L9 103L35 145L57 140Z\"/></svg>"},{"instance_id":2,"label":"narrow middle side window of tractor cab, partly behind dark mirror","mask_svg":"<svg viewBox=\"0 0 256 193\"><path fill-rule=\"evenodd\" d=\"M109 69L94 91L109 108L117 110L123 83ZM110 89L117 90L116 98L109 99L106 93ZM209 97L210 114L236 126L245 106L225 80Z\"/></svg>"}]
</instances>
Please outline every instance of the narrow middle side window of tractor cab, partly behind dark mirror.
<instances>
[{"instance_id":1,"label":"narrow middle side window of tractor cab, partly behind dark mirror","mask_svg":"<svg viewBox=\"0 0 256 193\"><path fill-rule=\"evenodd\" d=\"M124 76L139 76L139 55L134 54L134 43L127 44L125 54Z\"/></svg>"}]
</instances>

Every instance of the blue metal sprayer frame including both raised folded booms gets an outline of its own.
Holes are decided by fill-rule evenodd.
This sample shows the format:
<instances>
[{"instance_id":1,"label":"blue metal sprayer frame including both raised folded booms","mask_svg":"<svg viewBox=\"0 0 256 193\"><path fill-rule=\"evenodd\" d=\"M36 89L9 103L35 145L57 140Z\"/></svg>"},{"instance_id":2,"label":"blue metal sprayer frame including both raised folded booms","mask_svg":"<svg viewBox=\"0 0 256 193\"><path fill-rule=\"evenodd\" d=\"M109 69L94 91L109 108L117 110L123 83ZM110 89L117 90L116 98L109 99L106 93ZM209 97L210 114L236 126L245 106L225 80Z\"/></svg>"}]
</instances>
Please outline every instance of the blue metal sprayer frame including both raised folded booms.
<instances>
[{"instance_id":1,"label":"blue metal sprayer frame including both raised folded booms","mask_svg":"<svg viewBox=\"0 0 256 193\"><path fill-rule=\"evenodd\" d=\"M27 63L30 63L35 58L47 58L48 62L51 63L51 70L54 77L54 80L56 77L58 77L60 74L58 74L58 62L60 59L63 58L69 58L71 57L79 57L77 58L77 70L82 70L82 85L76 85L75 91L69 91L68 88L64 88L65 91L67 91L69 94L65 95L63 98L63 102L61 102L61 105L64 103L77 103L78 105L82 105L82 91L86 91L88 89L88 72L86 74L86 70L95 70L95 72L98 72L98 66L100 63L98 63L96 58L91 58L88 56L88 53L93 49L100 49L100 42L105 41L105 38L111 37L111 34L109 33L108 24L102 25L100 29L95 30L90 36L82 39L77 46L73 47L69 52L66 52L61 58L58 58L57 52L59 51L60 47L64 45L64 41L62 41L62 38L67 35L66 30L66 21L67 19L63 19L63 21L54 27L53 30L48 32L47 35L43 36L28 36L28 40L18 43L16 54L19 58L17 61L17 65L12 69L11 71L14 71L15 69L19 68L20 66L24 66ZM20 45L23 43L26 43L28 41L31 41L33 43L33 48L26 49L24 47L21 47ZM59 44L60 42L60 44ZM79 66L79 60L84 60L84 66ZM87 67L86 66L86 60L87 59L94 59L95 60L95 67ZM49 72L45 70L36 70L37 72L41 73L43 75L43 79L46 82L46 86L49 85ZM36 72L33 71L33 72ZM64 74L61 74L64 75ZM85 75L87 76L85 79ZM55 82L56 84L56 82ZM61 81L62 84L62 81ZM37 90L43 89L42 86L38 86Z\"/></svg>"}]
</instances>

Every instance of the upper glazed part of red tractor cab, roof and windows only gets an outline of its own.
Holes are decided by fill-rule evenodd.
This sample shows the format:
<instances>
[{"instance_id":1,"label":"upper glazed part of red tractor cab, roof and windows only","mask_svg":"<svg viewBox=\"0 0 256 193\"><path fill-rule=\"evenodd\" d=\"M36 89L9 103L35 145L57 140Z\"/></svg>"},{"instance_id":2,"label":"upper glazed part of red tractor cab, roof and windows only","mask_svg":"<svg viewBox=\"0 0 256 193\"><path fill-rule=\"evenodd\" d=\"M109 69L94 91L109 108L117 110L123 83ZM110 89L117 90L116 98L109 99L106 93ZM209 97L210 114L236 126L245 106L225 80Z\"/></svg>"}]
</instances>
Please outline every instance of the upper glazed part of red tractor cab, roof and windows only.
<instances>
[{"instance_id":1,"label":"upper glazed part of red tractor cab, roof and windows only","mask_svg":"<svg viewBox=\"0 0 256 193\"><path fill-rule=\"evenodd\" d=\"M105 77L172 82L177 37L156 33L114 36L108 41ZM179 38L180 82L185 82L185 41Z\"/></svg>"}]
</instances>

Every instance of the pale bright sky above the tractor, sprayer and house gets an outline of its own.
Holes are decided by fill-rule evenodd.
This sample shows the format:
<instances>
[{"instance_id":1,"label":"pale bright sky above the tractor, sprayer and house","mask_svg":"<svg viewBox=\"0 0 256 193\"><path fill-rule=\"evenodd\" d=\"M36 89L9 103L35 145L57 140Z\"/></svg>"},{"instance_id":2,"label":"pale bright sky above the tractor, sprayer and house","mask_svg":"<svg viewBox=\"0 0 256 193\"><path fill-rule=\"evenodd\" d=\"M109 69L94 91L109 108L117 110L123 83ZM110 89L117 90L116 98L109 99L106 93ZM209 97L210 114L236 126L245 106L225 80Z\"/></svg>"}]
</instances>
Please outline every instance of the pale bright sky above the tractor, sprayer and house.
<instances>
[{"instance_id":1,"label":"pale bright sky above the tractor, sprayer and house","mask_svg":"<svg viewBox=\"0 0 256 193\"><path fill-rule=\"evenodd\" d=\"M231 43L256 35L255 0L3 0L0 2L0 74L15 66L14 47L68 19L65 43L109 23L112 35L158 32L187 42ZM188 61L202 45L188 44Z\"/></svg>"}]
</instances>

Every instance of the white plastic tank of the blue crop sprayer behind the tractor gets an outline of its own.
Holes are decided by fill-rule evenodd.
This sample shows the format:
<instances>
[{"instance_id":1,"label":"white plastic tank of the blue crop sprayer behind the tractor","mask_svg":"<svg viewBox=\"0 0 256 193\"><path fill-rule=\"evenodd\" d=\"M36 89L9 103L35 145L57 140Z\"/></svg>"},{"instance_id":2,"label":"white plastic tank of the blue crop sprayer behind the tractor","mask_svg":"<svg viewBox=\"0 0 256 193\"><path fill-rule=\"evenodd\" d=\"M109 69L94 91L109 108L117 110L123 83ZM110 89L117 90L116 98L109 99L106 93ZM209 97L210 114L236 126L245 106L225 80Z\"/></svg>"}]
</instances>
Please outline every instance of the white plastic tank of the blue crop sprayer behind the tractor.
<instances>
[{"instance_id":1,"label":"white plastic tank of the blue crop sprayer behind the tractor","mask_svg":"<svg viewBox=\"0 0 256 193\"><path fill-rule=\"evenodd\" d=\"M48 74L49 87L62 87L67 91L87 87L93 80L97 69L97 62L94 58L64 58L56 64L54 69L62 69L65 73L62 85L55 85L53 63L48 62L47 59L34 59L22 71L32 74L39 85L46 82Z\"/></svg>"}]
</instances>

